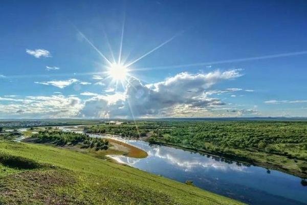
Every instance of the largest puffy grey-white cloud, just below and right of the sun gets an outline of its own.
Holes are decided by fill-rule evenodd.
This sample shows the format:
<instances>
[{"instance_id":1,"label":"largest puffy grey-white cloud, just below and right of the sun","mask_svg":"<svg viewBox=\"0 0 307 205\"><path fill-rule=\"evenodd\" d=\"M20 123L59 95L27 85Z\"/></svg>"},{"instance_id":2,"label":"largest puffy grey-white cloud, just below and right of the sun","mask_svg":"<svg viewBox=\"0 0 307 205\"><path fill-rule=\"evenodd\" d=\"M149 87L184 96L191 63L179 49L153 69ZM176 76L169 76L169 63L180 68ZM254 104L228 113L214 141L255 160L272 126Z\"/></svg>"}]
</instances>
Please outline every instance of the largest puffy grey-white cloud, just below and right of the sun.
<instances>
[{"instance_id":1,"label":"largest puffy grey-white cloud, just below and right of the sun","mask_svg":"<svg viewBox=\"0 0 307 205\"><path fill-rule=\"evenodd\" d=\"M85 117L167 116L189 110L204 111L223 106L218 98L208 97L206 91L223 80L242 76L240 70L213 71L207 74L179 73L155 84L143 85L131 77L125 92L95 96L85 101L81 115ZM228 89L228 92L241 89ZM112 99L112 100L110 100Z\"/></svg>"}]
</instances>

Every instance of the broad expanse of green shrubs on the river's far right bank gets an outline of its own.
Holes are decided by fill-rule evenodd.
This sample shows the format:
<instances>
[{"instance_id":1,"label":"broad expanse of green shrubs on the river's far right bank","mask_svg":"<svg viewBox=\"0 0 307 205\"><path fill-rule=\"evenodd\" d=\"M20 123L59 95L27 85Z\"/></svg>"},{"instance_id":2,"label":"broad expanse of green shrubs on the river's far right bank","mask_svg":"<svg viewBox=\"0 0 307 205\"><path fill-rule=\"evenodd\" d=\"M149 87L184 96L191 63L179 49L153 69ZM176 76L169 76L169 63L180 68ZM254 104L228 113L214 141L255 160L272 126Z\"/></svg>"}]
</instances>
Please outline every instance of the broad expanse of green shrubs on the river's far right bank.
<instances>
[{"instance_id":1,"label":"broad expanse of green shrubs on the river's far right bank","mask_svg":"<svg viewBox=\"0 0 307 205\"><path fill-rule=\"evenodd\" d=\"M154 134L148 139L151 143L224 153L240 149L307 160L304 155L307 121L158 121L155 124Z\"/></svg>"}]
</instances>

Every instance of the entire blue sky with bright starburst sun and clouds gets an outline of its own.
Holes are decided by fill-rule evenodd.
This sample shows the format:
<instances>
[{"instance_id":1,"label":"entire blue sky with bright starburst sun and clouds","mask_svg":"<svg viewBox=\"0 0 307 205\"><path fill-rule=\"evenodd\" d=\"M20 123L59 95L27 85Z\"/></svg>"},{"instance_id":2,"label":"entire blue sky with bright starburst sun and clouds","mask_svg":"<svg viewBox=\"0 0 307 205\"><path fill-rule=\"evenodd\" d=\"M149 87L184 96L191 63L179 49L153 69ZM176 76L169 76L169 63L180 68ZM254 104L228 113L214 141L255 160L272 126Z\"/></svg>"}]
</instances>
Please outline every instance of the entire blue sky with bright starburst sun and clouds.
<instances>
[{"instance_id":1,"label":"entire blue sky with bright starburst sun and clouds","mask_svg":"<svg viewBox=\"0 0 307 205\"><path fill-rule=\"evenodd\" d=\"M306 19L306 1L4 1L0 118L307 117Z\"/></svg>"}]
</instances>

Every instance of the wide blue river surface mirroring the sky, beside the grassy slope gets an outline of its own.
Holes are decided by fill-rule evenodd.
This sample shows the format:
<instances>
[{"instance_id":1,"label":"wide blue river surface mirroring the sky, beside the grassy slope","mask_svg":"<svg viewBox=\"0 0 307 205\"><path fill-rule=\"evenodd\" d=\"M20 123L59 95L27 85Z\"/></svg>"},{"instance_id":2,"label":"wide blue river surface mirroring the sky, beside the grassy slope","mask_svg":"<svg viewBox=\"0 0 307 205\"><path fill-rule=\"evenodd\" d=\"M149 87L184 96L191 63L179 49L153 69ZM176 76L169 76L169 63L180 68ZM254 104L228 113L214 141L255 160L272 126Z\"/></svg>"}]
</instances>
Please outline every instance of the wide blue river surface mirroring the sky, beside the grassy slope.
<instances>
[{"instance_id":1,"label":"wide blue river surface mirroring the sky, beside the grassy slope","mask_svg":"<svg viewBox=\"0 0 307 205\"><path fill-rule=\"evenodd\" d=\"M181 182L192 180L195 186L202 189L252 204L307 204L307 187L301 186L298 177L278 171L268 174L261 167L247 167L220 157L165 146L149 146L144 141L112 138L148 153L144 159L111 156L132 167Z\"/></svg>"}]
</instances>

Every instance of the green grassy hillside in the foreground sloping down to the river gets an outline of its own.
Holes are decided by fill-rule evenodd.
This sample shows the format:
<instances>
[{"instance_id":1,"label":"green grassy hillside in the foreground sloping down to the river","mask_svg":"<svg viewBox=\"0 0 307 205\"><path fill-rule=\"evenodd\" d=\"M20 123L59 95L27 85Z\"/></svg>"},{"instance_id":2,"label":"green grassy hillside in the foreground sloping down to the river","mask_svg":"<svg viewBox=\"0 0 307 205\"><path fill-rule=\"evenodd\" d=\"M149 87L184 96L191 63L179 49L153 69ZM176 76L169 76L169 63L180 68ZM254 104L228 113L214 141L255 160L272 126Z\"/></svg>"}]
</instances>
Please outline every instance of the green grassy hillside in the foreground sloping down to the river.
<instances>
[{"instance_id":1,"label":"green grassy hillside in the foreground sloping down to the river","mask_svg":"<svg viewBox=\"0 0 307 205\"><path fill-rule=\"evenodd\" d=\"M49 165L18 170L0 163L0 204L241 204L71 150L0 141L4 155Z\"/></svg>"}]
</instances>

